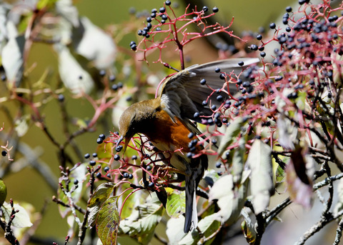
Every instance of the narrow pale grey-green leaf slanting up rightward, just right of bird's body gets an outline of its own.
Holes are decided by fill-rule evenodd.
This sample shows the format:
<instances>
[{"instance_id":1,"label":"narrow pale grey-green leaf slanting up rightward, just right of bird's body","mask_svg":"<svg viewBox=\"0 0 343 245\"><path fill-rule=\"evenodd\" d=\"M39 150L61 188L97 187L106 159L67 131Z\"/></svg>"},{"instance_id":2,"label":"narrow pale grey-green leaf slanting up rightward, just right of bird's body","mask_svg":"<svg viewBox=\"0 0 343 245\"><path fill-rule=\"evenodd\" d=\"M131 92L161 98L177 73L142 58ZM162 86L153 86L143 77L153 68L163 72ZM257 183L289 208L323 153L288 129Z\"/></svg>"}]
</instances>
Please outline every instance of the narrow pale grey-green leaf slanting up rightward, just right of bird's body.
<instances>
[{"instance_id":1,"label":"narrow pale grey-green leaf slanting up rightward, just right of bird's body","mask_svg":"<svg viewBox=\"0 0 343 245\"><path fill-rule=\"evenodd\" d=\"M227 149L227 147L232 144L234 139L238 136L241 132L241 128L247 120L244 117L239 116L232 123L227 127L227 131L225 132L225 136L220 142L219 149L218 149L218 156L222 156L223 152Z\"/></svg>"}]
</instances>

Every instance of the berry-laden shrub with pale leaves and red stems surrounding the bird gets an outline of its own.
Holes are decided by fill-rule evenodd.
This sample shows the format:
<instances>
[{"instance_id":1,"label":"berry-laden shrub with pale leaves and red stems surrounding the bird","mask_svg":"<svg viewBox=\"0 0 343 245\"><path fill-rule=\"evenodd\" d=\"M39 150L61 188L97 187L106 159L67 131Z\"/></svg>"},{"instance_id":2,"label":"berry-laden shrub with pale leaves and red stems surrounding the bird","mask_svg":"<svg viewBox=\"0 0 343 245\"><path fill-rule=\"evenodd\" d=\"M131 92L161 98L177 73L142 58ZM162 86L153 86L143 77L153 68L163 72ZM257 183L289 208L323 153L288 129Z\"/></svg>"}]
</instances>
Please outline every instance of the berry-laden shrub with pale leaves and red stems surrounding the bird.
<instances>
[{"instance_id":1,"label":"berry-laden shrub with pale leaves and red stems surrounding the bird","mask_svg":"<svg viewBox=\"0 0 343 245\"><path fill-rule=\"evenodd\" d=\"M20 11L11 11L14 7ZM5 30L0 33L1 86L6 91L1 92L0 103L12 122L0 129L1 142L5 142L1 143L1 174L16 171L13 161L20 165L20 155L24 155L31 157L30 164L54 191L59 187L52 200L69 226L65 244L74 237L78 244L87 238L99 239L98 244L124 243L124 239L149 244L153 237L164 242L161 236L171 244L221 244L234 236L234 232L227 234L237 229L234 225L238 223L242 231L237 233L244 234L248 244L261 244L267 226L276 222L289 204L311 209L314 199L322 201L322 215L298 244L304 244L329 222L340 220L334 240L339 244L343 214L339 181L343 176L339 156L343 149L343 17L336 14L342 11L342 3L335 8L327 0L318 5L299 1L297 10L287 8L283 16L285 32L271 24L274 34L269 38L261 34L239 38L229 31L232 22L229 26L209 24L219 11L217 7L211 11L207 6L200 10L187 6L179 15L170 1L165 1L159 10L144 16L143 29L137 27L142 18L123 24L128 34L137 31L139 35L139 40L129 44L131 51L117 48L120 40L79 16L68 0L34 1L25 6L29 11L21 4L0 8L4 16L0 27ZM200 116L203 138L197 144L204 145L199 154L217 161L219 171L209 169L204 175L197 190L199 226L184 234L184 184L168 166L169 159L161 159L151 142L136 135L123 154L114 129L107 136L99 135L98 146L93 143L96 152L90 156L81 154L76 139L91 134L106 114L114 115L116 125L126 106L124 101L153 96L158 84L151 82L155 76L142 72L148 64L172 68L177 53L184 69L185 48L197 39L217 34L236 41L234 51L219 50L222 58L232 54L254 57L254 51L259 51L262 61L259 66L242 68L239 76L213 71L213 76L223 80L223 88L212 89L212 94L224 92L229 99L217 96L221 105L211 107L211 116ZM51 46L58 56L59 82L51 82L49 70L38 81L28 79L34 67L28 67L27 57L36 43ZM274 60L268 61L264 49L272 44L279 47L272 54ZM118 72L114 61L122 66ZM118 79L120 82L115 82ZM233 91L227 89L232 86ZM203 98L205 104L211 103L212 94ZM94 114L89 119L71 118L65 95L88 102ZM58 101L61 111L59 136L63 139L54 136L44 117L44 107L52 100ZM19 108L12 113L8 104ZM38 126L59 151L58 185L46 164L36 159L36 152L21 141L32 125ZM337 190L334 181L339 181ZM3 200L6 186L1 183ZM324 186L328 187L327 199L319 191ZM284 189L289 197L272 206L270 200ZM334 196L338 201L333 208ZM12 200L1 204L5 239L11 244L29 240L27 234L31 233L25 235L25 231L39 223L34 212L29 205L20 206ZM161 234L158 226L164 221L166 232Z\"/></svg>"}]
</instances>

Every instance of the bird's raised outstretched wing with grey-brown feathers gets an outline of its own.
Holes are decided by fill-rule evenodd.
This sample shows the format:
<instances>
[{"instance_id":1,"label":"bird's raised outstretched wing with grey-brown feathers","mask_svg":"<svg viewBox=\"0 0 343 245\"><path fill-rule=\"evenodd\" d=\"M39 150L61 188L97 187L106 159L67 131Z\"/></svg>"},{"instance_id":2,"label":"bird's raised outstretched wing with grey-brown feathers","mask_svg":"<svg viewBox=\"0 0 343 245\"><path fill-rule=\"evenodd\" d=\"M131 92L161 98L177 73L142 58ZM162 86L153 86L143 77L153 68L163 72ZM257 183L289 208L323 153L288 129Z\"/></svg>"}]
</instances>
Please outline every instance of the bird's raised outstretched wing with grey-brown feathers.
<instances>
[{"instance_id":1,"label":"bird's raised outstretched wing with grey-brown feathers","mask_svg":"<svg viewBox=\"0 0 343 245\"><path fill-rule=\"evenodd\" d=\"M239 62L243 61L244 65L239 66ZM166 79L161 91L160 99L161 106L172 119L175 116L183 119L187 124L189 119L199 121L194 118L194 114L199 112L202 115L212 115L210 106L219 106L222 102L217 101L217 96L222 95L223 101L228 95L224 91L217 94L212 89L222 89L224 80L220 79L220 74L215 71L219 68L221 72L227 74L239 74L242 69L249 65L256 64L259 59L239 58L239 59L223 59L212 61L206 64L189 66L187 69L179 71L177 74ZM206 80L207 85L200 84L202 79ZM234 94L237 91L237 86L231 84L229 90ZM227 87L224 88L227 90ZM208 105L203 106L202 101L208 100Z\"/></svg>"}]
</instances>

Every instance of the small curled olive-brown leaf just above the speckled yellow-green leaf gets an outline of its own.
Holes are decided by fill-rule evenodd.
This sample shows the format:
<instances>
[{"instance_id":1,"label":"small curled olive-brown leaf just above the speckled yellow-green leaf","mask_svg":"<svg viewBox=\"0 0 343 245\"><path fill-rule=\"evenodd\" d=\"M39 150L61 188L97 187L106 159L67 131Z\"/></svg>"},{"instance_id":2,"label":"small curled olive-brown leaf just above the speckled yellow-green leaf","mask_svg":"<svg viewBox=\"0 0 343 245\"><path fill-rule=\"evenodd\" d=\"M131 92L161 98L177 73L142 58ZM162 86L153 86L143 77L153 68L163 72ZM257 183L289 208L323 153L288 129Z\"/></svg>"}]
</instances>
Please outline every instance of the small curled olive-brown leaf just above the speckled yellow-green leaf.
<instances>
[{"instance_id":1,"label":"small curled olive-brown leaf just above the speckled yellow-green leaf","mask_svg":"<svg viewBox=\"0 0 343 245\"><path fill-rule=\"evenodd\" d=\"M101 184L96 190L94 191L93 196L91 196L91 200L89 200L88 208L89 208L89 217L88 217L88 224L89 226L94 226L96 222L96 216L99 213L99 209L101 208L102 204L106 199L109 198L109 195L114 189L113 183L104 183Z\"/></svg>"}]
</instances>

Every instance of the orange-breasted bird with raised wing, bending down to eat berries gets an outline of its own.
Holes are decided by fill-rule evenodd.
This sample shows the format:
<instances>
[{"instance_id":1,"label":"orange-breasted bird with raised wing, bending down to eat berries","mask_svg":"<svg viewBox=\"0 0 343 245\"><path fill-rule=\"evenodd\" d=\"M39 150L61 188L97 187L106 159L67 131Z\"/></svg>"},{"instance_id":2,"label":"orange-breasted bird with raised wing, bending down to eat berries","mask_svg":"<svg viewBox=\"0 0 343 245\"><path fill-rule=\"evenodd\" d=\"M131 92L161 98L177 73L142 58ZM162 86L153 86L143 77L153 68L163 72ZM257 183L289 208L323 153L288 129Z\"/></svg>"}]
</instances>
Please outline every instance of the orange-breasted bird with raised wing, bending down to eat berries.
<instances>
[{"instance_id":1,"label":"orange-breasted bird with raised wing, bending down to eat berries","mask_svg":"<svg viewBox=\"0 0 343 245\"><path fill-rule=\"evenodd\" d=\"M242 65L242 61L244 64ZM197 227L197 203L196 189L199 181L207 169L207 155L202 154L197 158L188 157L187 153L199 151L199 144L195 149L189 147L189 142L197 139L200 134L196 124L201 123L203 116L211 116L213 111L210 106L222 104L228 95L224 91L216 93L216 89L227 89L224 85L221 72L227 74L239 74L242 68L257 63L259 59L224 59L202 65L189 66L187 69L177 72L164 81L161 95L155 99L148 99L132 104L127 108L119 119L118 144L125 139L124 149L129 144L134 134L144 134L159 151L174 151L170 164L182 171L186 181L186 211L184 233ZM240 64L239 64L240 62ZM204 81L204 79L206 81ZM211 89L206 86L207 84ZM237 91L236 84L231 84L230 91ZM213 89L213 90L212 90ZM212 94L210 96L210 94ZM218 101L217 96L222 95L223 100ZM203 101L208 101L204 106ZM195 114L195 116L194 116ZM189 133L194 133L189 139ZM192 135L192 134L191 134ZM181 151L176 151L181 149ZM169 153L164 154L166 158Z\"/></svg>"}]
</instances>

